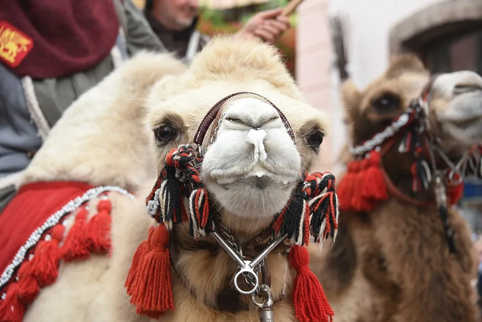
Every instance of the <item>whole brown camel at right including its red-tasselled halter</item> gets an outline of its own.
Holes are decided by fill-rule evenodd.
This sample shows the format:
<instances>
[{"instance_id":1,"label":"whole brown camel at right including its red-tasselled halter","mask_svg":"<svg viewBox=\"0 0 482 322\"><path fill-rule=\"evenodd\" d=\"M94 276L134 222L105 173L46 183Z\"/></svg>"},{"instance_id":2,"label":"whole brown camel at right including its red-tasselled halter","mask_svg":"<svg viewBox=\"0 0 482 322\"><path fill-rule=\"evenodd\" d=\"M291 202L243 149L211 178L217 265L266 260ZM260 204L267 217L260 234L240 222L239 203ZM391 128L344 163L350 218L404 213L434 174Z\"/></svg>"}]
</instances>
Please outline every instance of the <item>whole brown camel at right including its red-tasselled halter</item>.
<instances>
[{"instance_id":1,"label":"whole brown camel at right including its red-tasselled halter","mask_svg":"<svg viewBox=\"0 0 482 322\"><path fill-rule=\"evenodd\" d=\"M471 286L474 246L468 225L450 207L460 185L441 173L449 201L445 220L439 207L445 194L437 193L434 165L447 170L482 142L482 78L460 71L431 79L416 56L404 55L363 91L345 79L341 99L351 148L344 152L348 169L337 184L340 232L330 252L312 263L334 321L479 321ZM418 115L425 128L398 130L394 120L408 120L417 106L421 113L411 116ZM389 127L392 135L380 139ZM374 167L363 163L372 161ZM480 175L479 159L475 165Z\"/></svg>"}]
</instances>

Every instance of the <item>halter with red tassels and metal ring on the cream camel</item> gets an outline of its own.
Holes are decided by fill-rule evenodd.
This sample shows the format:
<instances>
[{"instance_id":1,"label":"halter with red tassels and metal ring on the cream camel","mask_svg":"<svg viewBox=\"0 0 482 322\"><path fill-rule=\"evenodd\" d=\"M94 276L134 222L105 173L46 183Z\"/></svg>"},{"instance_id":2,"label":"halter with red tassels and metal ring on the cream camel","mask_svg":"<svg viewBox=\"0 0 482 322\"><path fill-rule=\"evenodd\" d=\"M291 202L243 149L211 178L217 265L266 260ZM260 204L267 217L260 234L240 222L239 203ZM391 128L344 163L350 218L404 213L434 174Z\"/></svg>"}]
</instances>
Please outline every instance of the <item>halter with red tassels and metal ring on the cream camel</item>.
<instances>
[{"instance_id":1,"label":"halter with red tassels and metal ring on the cream camel","mask_svg":"<svg viewBox=\"0 0 482 322\"><path fill-rule=\"evenodd\" d=\"M206 114L194 137L197 149L191 145L181 145L171 150L166 157L164 168L147 197L147 210L157 224L149 231L147 241L143 242L132 262L126 287L132 296L131 303L137 312L153 318L174 310L171 289L171 264L169 256L169 233L176 224L189 222L190 235L195 239L212 236L231 258L239 265L234 277L235 289L242 294L251 294L253 302L260 307L260 318L273 321L272 295L269 285L259 283L258 274L262 273L264 259L281 242L290 245L289 262L297 271L293 285L293 301L298 320L329 321L333 315L318 279L309 269L309 256L305 247L310 235L315 242L328 237L334 241L338 228L338 199L335 194L335 178L331 173L302 173L298 187L280 213L276 214L269 228L272 232L269 245L252 261L246 260L242 252L226 233L219 214L210 205L208 190L201 181L199 169L203 154L201 146L210 125L217 121L211 130L212 144L222 122L220 110L233 97L255 96L275 108L293 143L295 137L283 113L265 97L251 93L238 92L219 100ZM184 198L188 208L184 206ZM217 216L216 216L217 215ZM218 232L220 234L218 234ZM224 240L231 239L231 241ZM252 286L244 291L237 285L237 278L244 276ZM260 303L256 296L263 298Z\"/></svg>"}]
</instances>

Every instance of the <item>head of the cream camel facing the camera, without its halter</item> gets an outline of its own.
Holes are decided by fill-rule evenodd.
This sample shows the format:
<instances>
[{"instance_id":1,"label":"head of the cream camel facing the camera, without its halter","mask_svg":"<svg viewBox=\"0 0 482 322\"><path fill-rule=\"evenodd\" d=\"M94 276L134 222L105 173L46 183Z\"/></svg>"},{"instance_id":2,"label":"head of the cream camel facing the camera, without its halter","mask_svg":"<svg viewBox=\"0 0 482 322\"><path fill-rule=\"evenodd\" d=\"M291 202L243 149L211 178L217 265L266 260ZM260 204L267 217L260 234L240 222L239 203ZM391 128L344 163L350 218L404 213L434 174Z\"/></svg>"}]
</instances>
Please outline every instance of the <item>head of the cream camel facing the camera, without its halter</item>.
<instances>
[{"instance_id":1,"label":"head of the cream camel facing the camera, without its halter","mask_svg":"<svg viewBox=\"0 0 482 322\"><path fill-rule=\"evenodd\" d=\"M249 93L229 97L237 92ZM214 39L188 72L153 87L148 106L159 171L170 150L205 135L196 144L211 208L246 236L284 208L327 131L326 117L303 101L276 49L257 40ZM217 114L209 113L213 106ZM205 118L212 124L198 132Z\"/></svg>"}]
</instances>

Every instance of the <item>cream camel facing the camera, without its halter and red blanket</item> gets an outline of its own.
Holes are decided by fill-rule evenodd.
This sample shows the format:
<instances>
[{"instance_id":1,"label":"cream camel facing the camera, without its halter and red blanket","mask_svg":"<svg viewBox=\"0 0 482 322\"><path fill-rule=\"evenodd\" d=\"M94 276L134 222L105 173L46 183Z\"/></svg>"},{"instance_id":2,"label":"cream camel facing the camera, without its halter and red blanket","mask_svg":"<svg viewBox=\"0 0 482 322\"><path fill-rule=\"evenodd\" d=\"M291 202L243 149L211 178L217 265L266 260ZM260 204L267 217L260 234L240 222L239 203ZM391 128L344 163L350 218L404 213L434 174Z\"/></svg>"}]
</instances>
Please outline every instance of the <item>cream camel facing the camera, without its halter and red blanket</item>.
<instances>
[{"instance_id":1,"label":"cream camel facing the camera, without its halter and red blanket","mask_svg":"<svg viewBox=\"0 0 482 322\"><path fill-rule=\"evenodd\" d=\"M296 138L295 146L278 112L257 96L241 95L224 106L201 176L236 243L244 245L270 225L300 171L316 162L326 118L303 101L275 48L257 40L215 39L183 71L166 55L142 54L128 61L67 110L26 169L21 185L88 181L135 196L109 194L111 255L61 262L57 281L42 288L25 321L149 320L136 313L124 286L135 250L153 225L145 198L168 151L192 142L220 98L239 91L263 95L286 116ZM97 200L90 201L90 209ZM187 223L175 227L172 239L178 248L172 263L175 310L160 321L259 320L249 295L236 295L234 310L222 308L232 294L221 291L229 288L237 266L213 239L195 241ZM282 249L267 258L277 322L295 320L294 272Z\"/></svg>"}]
</instances>

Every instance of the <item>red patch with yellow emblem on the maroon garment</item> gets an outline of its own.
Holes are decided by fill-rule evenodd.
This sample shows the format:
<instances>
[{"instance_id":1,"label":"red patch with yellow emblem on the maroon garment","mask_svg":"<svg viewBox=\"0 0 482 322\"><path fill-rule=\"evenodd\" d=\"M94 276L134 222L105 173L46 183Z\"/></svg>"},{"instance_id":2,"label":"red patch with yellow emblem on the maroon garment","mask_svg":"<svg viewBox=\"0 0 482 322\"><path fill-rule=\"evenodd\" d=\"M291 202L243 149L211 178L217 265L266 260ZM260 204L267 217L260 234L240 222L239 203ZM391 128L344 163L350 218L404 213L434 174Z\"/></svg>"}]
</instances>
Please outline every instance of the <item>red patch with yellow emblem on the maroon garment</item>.
<instances>
[{"instance_id":1,"label":"red patch with yellow emblem on the maroon garment","mask_svg":"<svg viewBox=\"0 0 482 322\"><path fill-rule=\"evenodd\" d=\"M17 67L34 47L32 38L6 21L0 21L0 58Z\"/></svg>"}]
</instances>

